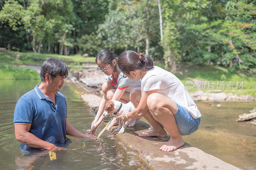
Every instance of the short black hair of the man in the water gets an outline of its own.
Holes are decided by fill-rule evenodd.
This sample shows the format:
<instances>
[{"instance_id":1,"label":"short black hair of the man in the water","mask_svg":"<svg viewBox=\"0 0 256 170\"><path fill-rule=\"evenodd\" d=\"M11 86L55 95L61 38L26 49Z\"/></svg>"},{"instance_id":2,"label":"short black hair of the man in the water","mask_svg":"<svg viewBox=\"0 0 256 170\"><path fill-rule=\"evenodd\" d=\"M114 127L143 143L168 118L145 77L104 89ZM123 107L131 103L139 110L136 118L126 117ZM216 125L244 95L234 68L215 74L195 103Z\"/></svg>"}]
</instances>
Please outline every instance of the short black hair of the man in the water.
<instances>
[{"instance_id":1,"label":"short black hair of the man in the water","mask_svg":"<svg viewBox=\"0 0 256 170\"><path fill-rule=\"evenodd\" d=\"M65 64L59 59L49 58L44 61L41 66L40 79L41 82L45 81L45 75L50 74L50 77L54 79L56 76L60 75L61 77L68 76L68 69Z\"/></svg>"}]
</instances>

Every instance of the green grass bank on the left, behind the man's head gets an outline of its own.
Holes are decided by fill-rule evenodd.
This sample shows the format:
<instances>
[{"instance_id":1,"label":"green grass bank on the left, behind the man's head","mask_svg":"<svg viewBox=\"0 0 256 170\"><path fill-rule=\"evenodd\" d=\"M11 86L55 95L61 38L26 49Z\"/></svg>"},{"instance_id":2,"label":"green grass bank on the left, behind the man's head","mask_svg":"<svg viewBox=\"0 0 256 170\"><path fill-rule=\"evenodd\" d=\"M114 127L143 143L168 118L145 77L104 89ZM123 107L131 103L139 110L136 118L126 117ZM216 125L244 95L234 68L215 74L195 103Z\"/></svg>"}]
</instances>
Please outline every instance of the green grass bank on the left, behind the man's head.
<instances>
[{"instance_id":1,"label":"green grass bank on the left, behind the man's head","mask_svg":"<svg viewBox=\"0 0 256 170\"><path fill-rule=\"evenodd\" d=\"M60 59L65 64L74 66L82 66L84 63L95 62L95 57L82 57L81 55L65 56L6 51L0 53L0 79L39 79L39 74L35 70L27 67L19 67L19 65L41 65L50 57Z\"/></svg>"}]
</instances>

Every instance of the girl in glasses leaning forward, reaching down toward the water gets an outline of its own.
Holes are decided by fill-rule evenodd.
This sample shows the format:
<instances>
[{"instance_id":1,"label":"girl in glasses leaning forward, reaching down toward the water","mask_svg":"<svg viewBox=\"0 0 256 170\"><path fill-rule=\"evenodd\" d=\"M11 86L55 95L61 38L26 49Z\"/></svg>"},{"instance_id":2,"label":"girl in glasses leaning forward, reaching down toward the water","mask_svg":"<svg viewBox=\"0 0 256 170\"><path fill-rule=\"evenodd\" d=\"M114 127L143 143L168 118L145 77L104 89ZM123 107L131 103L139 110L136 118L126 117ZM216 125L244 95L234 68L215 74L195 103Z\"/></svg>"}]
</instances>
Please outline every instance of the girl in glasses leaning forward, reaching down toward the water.
<instances>
[{"instance_id":1,"label":"girl in glasses leaning forward, reaching down toward the water","mask_svg":"<svg viewBox=\"0 0 256 170\"><path fill-rule=\"evenodd\" d=\"M134 88L140 88L141 80L135 81L129 78L124 78L123 73L117 73L116 71L117 56L108 49L102 49L96 56L96 63L98 70L106 74L106 81L102 84L103 97L100 101L100 106L92 122L91 130L87 133L93 134L101 122L105 119L102 115L105 104L108 100L117 100L122 103L130 102L130 92ZM111 121L107 130L110 127L118 124L116 118Z\"/></svg>"}]
</instances>

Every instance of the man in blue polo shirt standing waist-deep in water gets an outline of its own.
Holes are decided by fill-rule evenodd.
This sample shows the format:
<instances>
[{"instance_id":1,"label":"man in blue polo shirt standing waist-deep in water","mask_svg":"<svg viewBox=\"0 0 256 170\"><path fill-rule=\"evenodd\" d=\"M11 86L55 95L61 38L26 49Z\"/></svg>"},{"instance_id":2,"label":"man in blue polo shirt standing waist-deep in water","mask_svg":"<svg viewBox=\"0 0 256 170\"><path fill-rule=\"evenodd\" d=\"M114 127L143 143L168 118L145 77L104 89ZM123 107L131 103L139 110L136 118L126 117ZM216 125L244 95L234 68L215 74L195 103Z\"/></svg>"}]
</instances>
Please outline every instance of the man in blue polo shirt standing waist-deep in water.
<instances>
[{"instance_id":1,"label":"man in blue polo shirt standing waist-deep in water","mask_svg":"<svg viewBox=\"0 0 256 170\"><path fill-rule=\"evenodd\" d=\"M66 135L96 138L76 130L67 121L67 103L60 92L68 76L65 64L49 58L41 67L41 84L20 97L14 110L15 137L21 148L61 150L56 145L66 140Z\"/></svg>"}]
</instances>

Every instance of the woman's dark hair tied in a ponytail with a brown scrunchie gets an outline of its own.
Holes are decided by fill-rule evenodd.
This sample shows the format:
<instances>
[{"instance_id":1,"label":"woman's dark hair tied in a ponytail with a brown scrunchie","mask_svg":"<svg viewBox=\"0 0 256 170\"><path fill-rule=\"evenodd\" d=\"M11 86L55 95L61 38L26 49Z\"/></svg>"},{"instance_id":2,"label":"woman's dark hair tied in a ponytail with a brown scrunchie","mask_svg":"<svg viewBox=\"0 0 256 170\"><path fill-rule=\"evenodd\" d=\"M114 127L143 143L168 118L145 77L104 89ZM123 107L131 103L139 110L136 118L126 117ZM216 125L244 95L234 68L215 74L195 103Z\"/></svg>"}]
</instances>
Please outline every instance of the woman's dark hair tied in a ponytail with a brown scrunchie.
<instances>
[{"instance_id":1,"label":"woman's dark hair tied in a ponytail with a brown scrunchie","mask_svg":"<svg viewBox=\"0 0 256 170\"><path fill-rule=\"evenodd\" d=\"M140 55L134 51L125 51L121 53L117 60L117 70L126 74L130 74L132 70L147 70L154 67L152 59L145 54L142 54L144 60L140 60Z\"/></svg>"}]
</instances>

